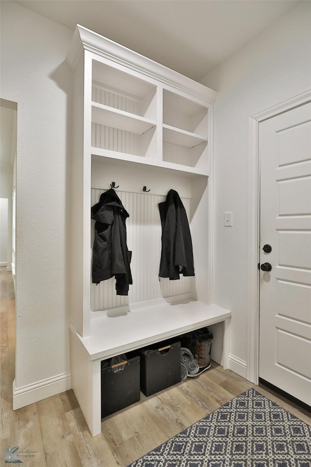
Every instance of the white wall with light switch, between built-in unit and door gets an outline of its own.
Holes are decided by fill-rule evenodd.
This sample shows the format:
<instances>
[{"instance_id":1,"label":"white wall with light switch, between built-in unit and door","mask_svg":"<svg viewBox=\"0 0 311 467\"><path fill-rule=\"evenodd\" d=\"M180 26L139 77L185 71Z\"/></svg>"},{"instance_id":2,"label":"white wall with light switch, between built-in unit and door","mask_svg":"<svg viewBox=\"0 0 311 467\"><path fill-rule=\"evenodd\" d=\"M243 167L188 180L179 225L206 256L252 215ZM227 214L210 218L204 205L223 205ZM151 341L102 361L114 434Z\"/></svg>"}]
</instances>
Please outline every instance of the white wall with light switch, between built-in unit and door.
<instances>
[{"instance_id":1,"label":"white wall with light switch, between built-in unit and door","mask_svg":"<svg viewBox=\"0 0 311 467\"><path fill-rule=\"evenodd\" d=\"M231 368L246 374L249 116L311 88L311 2L209 73L214 105L214 303L232 309ZM233 212L233 227L224 213Z\"/></svg>"}]
</instances>

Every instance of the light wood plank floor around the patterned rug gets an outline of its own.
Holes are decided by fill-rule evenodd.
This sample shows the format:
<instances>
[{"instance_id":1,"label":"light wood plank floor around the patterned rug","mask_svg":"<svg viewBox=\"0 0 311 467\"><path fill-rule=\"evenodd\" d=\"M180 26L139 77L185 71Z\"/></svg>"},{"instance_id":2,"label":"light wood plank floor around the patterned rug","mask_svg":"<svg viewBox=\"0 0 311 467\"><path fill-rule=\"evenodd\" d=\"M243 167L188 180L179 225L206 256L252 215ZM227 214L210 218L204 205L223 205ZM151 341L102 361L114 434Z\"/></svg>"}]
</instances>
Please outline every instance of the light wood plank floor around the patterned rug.
<instances>
[{"instance_id":1,"label":"light wood plank floor around the patterned rug","mask_svg":"<svg viewBox=\"0 0 311 467\"><path fill-rule=\"evenodd\" d=\"M15 368L15 298L11 273L1 277L1 448L18 446L25 467L126 467L146 452L214 411L234 396L255 387L311 425L310 413L264 387L254 386L216 364L197 378L188 378L166 391L113 414L92 437L73 391L66 391L15 412L12 381Z\"/></svg>"}]
</instances>

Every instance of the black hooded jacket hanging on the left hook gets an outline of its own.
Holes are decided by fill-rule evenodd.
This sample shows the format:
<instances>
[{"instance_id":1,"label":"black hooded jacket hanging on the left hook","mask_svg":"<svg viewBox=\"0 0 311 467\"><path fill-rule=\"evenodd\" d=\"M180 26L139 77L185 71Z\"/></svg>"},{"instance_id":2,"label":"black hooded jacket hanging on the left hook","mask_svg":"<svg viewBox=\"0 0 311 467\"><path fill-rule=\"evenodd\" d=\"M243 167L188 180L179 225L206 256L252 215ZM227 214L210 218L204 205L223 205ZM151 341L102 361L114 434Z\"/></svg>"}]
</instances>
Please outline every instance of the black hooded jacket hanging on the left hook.
<instances>
[{"instance_id":1,"label":"black hooded jacket hanging on the left hook","mask_svg":"<svg viewBox=\"0 0 311 467\"><path fill-rule=\"evenodd\" d=\"M117 295L127 295L129 284L133 284L132 251L126 245L127 217L121 199L112 189L102 193L99 202L91 208L91 218L96 221L92 282L99 284L115 276Z\"/></svg>"}]
</instances>

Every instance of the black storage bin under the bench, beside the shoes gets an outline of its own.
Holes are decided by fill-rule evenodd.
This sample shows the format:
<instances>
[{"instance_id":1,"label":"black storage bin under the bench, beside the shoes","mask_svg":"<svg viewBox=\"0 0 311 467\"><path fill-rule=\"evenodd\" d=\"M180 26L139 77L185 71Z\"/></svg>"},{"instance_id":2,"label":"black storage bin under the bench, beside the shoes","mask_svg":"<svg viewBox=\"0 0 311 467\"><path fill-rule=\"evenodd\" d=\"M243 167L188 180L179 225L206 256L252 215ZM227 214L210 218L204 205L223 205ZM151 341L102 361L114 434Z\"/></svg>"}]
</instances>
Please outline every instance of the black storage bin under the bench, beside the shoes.
<instances>
[{"instance_id":1,"label":"black storage bin under the bench, beside the shoes","mask_svg":"<svg viewBox=\"0 0 311 467\"><path fill-rule=\"evenodd\" d=\"M148 396L181 381L180 342L140 350L140 390Z\"/></svg>"}]
</instances>

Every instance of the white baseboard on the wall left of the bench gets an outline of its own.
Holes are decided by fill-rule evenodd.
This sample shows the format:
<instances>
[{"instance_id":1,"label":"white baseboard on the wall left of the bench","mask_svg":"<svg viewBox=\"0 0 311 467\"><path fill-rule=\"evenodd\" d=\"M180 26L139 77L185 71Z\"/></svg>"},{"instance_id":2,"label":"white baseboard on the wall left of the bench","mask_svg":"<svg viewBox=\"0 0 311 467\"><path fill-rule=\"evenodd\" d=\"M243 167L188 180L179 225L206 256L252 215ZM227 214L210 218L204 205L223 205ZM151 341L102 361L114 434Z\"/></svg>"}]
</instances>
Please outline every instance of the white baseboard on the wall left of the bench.
<instances>
[{"instance_id":1,"label":"white baseboard on the wall left of the bench","mask_svg":"<svg viewBox=\"0 0 311 467\"><path fill-rule=\"evenodd\" d=\"M63 373L51 378L36 381L17 388L13 381L13 410L20 409L52 395L63 393L71 389L70 373Z\"/></svg>"}]
</instances>

